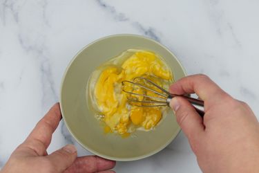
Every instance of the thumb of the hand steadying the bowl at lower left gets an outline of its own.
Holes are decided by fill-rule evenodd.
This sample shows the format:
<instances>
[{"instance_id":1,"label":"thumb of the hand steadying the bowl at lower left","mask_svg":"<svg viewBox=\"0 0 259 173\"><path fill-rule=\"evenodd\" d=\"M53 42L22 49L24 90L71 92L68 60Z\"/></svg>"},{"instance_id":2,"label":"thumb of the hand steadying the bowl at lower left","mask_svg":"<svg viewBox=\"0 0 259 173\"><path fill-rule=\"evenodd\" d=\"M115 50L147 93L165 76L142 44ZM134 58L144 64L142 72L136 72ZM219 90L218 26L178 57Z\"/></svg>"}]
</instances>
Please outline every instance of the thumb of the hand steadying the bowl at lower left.
<instances>
[{"instance_id":1,"label":"thumb of the hand steadying the bowl at lower left","mask_svg":"<svg viewBox=\"0 0 259 173\"><path fill-rule=\"evenodd\" d=\"M46 156L46 158L55 165L57 172L64 172L77 158L77 149L74 145L69 144Z\"/></svg>"}]
</instances>

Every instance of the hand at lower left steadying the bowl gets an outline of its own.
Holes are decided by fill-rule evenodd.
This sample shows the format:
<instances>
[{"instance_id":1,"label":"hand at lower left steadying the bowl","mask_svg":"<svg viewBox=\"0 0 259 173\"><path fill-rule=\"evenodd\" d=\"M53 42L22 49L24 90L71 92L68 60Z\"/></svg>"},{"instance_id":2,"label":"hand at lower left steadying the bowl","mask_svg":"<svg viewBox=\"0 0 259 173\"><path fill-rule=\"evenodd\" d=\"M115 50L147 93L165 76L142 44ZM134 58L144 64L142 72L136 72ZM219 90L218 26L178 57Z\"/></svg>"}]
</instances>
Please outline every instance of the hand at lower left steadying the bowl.
<instances>
[{"instance_id":1,"label":"hand at lower left steadying the bowl","mask_svg":"<svg viewBox=\"0 0 259 173\"><path fill-rule=\"evenodd\" d=\"M66 145L48 155L46 149L60 119L57 103L37 123L28 138L15 149L1 172L113 172L110 169L115 166L115 161L98 156L77 157L77 149L73 145Z\"/></svg>"}]
</instances>

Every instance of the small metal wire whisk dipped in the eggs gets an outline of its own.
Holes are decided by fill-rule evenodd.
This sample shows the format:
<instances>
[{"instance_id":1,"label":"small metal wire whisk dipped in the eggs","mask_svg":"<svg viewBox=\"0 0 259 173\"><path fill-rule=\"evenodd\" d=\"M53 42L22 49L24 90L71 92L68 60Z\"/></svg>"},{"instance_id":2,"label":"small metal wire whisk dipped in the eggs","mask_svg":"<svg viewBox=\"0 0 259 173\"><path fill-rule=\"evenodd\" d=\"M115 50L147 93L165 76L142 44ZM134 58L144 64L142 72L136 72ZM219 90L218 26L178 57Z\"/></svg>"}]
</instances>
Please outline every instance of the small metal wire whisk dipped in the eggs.
<instances>
[{"instance_id":1,"label":"small metal wire whisk dipped in the eggs","mask_svg":"<svg viewBox=\"0 0 259 173\"><path fill-rule=\"evenodd\" d=\"M145 84L142 84L140 81L146 82L148 84L151 84L152 86L155 86L159 91L155 89L151 89L151 87L146 86ZM158 84L155 84L151 80L148 80L147 78L144 77L137 77L132 81L124 80L122 81L122 91L125 93L128 93L131 95L131 97L128 97L128 102L133 102L136 103L135 105L138 107L163 107L163 106L169 106L169 103L171 99L175 96L180 96L182 98L185 98L188 100L193 107L196 109L196 111L200 114L200 116L204 116L204 102L199 99L191 98L186 95L175 95L172 93L169 93L169 91L166 91L163 89L161 86ZM138 82L135 82L138 81ZM126 91L125 86L127 84L131 84L131 88L138 87L145 89L146 91L151 91L152 93L155 93L157 96L153 95L148 95L146 92L145 93L136 93L135 91ZM134 97L135 96L135 97ZM136 97L142 97L143 99L137 99Z\"/></svg>"}]
</instances>

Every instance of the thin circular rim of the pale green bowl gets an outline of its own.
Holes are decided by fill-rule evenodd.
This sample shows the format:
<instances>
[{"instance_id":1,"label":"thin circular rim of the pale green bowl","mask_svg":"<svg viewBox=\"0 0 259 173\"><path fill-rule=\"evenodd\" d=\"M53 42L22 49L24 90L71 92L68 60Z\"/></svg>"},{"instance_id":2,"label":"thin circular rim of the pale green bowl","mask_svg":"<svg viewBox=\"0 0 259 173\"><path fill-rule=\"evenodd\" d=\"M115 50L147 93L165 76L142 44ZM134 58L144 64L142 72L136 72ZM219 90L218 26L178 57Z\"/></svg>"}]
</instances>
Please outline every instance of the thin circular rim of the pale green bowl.
<instances>
[{"instance_id":1,"label":"thin circular rim of the pale green bowl","mask_svg":"<svg viewBox=\"0 0 259 173\"><path fill-rule=\"evenodd\" d=\"M162 48L164 48L166 51L168 51L171 55L173 55L173 57L175 57L175 60L178 62L178 64L180 65L184 75L186 76L186 70L184 69L184 67L182 66L182 64L180 63L180 61L178 60L178 57L176 57L170 50L169 48L167 48L166 46L160 44L160 42L155 41L154 39L145 37L143 35L135 35L135 34L114 34L114 35L108 35L105 37L100 37L99 39L95 39L95 41L90 42L89 44L86 44L86 46L84 46L83 48L81 48L79 51L77 51L77 53L74 55L73 59L70 60L70 62L68 63L68 65L66 66L66 70L64 71L64 75L61 78L61 85L60 85L60 89L59 89L59 95L60 95L60 99L59 99L59 104L60 104L60 110L61 110L61 116L64 119L64 124L66 125L66 128L68 129L68 131L70 132L70 134L73 136L73 138L77 141L77 143L79 143L79 145L81 145L81 147L83 147L84 149L88 150L89 152L97 155L97 156L101 156L102 158L106 158L112 161L137 161L140 160L142 158L147 158L148 156L152 156L154 154L157 154L158 152L160 152L162 149L164 149L167 145L169 145L173 139L175 139L178 134L181 131L181 128L178 127L178 130L175 132L176 134L173 135L171 138L169 138L169 140L167 140L166 143L164 143L164 145L160 146L159 148L153 150L152 152L149 152L148 154L143 154L141 156L135 156L135 157L129 157L129 158L119 158L119 157L113 157L113 156L106 156L105 154L101 154L93 149L90 149L88 146L84 145L83 143L81 143L81 141L79 140L79 138L77 138L75 136L75 134L73 133L72 129L70 129L70 127L68 126L68 123L66 122L66 117L64 116L64 110L63 110L63 106L62 106L62 91L63 91L63 86L64 86L64 80L66 78L66 75L68 73L68 69L70 68L71 64L73 64L73 62L75 61L75 59L77 58L77 56L84 51L85 48L87 48L88 46L91 46L103 39L108 39L111 37L138 37L141 39L147 39L149 42L154 42L155 44L158 44L159 46L161 46Z\"/></svg>"}]
</instances>

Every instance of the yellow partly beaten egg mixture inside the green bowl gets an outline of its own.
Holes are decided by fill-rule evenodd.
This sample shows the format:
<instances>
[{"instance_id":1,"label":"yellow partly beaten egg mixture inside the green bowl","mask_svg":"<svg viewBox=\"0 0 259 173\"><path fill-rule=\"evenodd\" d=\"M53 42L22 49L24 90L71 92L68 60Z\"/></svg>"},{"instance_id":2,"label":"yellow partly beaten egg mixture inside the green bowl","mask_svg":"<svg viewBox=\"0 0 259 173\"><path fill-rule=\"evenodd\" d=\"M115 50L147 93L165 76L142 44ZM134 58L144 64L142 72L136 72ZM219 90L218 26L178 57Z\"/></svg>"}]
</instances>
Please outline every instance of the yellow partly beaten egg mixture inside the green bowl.
<instances>
[{"instance_id":1,"label":"yellow partly beaten egg mixture inside the green bowl","mask_svg":"<svg viewBox=\"0 0 259 173\"><path fill-rule=\"evenodd\" d=\"M128 94L122 91L122 81L136 77L152 78L162 86L173 81L171 70L155 53L127 50L128 57L121 56L106 63L95 82L93 98L102 120L104 131L128 136L135 129L153 129L162 118L162 107L137 107L129 104ZM130 89L131 86L127 86ZM163 86L164 87L164 86ZM131 88L132 90L132 88ZM135 91L143 93L141 89ZM156 95L157 96L157 95Z\"/></svg>"}]
</instances>

